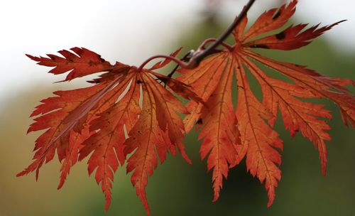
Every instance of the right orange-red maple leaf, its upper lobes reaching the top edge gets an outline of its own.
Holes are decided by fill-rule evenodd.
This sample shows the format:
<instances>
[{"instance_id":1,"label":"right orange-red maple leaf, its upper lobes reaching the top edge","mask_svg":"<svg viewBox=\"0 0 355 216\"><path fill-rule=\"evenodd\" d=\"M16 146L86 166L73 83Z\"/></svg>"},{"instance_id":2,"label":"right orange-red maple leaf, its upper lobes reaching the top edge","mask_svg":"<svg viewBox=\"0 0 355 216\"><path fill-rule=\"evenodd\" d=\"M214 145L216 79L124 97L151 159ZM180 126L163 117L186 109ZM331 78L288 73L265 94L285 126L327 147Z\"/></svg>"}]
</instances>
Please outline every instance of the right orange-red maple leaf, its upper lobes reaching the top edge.
<instances>
[{"instance_id":1,"label":"right orange-red maple leaf, its upper lobes reaching the top edge","mask_svg":"<svg viewBox=\"0 0 355 216\"><path fill-rule=\"evenodd\" d=\"M275 188L281 178L279 151L283 150L283 141L273 129L278 110L291 136L300 131L318 149L323 174L327 163L324 141L330 140L327 133L330 127L323 118L331 119L332 115L322 105L304 102L302 98L331 99L340 107L344 123L347 125L350 122L355 126L355 97L345 87L354 85L352 80L325 77L303 66L280 63L251 51L252 48L301 48L342 22L307 29L306 24L300 24L270 34L285 26L295 13L296 4L294 0L279 9L262 13L247 31L248 19L244 16L233 32L235 45L224 44L226 49L202 60L197 68L180 70L182 75L178 80L190 85L205 102L205 106L197 101L188 102L186 107L190 114L185 117L184 123L187 131L194 124L198 124L197 129L202 128L199 136L199 139L203 139L200 154L202 158L208 155L207 168L213 168L214 201L219 198L222 180L223 177L227 178L229 168L246 158L248 171L256 175L261 183L265 181L268 206L273 203ZM269 35L264 36L266 33ZM273 68L289 77L293 83L269 77L255 62ZM262 102L251 91L246 70L261 85ZM235 111L231 102L234 72L238 86Z\"/></svg>"}]
</instances>

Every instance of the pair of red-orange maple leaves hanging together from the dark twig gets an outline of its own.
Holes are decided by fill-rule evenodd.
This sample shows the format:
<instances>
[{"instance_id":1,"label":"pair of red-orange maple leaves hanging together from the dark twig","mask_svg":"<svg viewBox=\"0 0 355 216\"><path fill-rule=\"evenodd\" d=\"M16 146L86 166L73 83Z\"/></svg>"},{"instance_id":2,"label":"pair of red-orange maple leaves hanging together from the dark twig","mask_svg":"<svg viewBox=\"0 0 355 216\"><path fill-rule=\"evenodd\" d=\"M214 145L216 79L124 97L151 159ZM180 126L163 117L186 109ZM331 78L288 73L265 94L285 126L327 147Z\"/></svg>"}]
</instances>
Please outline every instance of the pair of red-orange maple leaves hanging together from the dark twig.
<instances>
[{"instance_id":1,"label":"pair of red-orange maple leaves hanging together from the dark twig","mask_svg":"<svg viewBox=\"0 0 355 216\"><path fill-rule=\"evenodd\" d=\"M197 125L202 139L200 155L202 159L207 157L208 170L213 169L213 200L219 198L229 169L246 158L251 175L265 182L270 206L281 178L283 141L273 129L278 112L291 136L300 131L312 141L325 174L324 141L330 140L327 133L330 127L324 118L331 119L332 115L323 105L302 99L331 99L339 106L344 124L355 126L355 97L345 87L354 85L354 81L325 77L303 66L281 63L252 51L253 48L301 48L338 24L322 28L299 24L279 30L295 13L296 4L294 0L280 9L266 11L248 30L245 30L248 21L244 16L234 29L234 45L224 43L223 50L202 60L197 68L178 70L180 75L176 79L155 72L168 65L169 59L146 69L122 63L111 65L85 48L61 50L62 56L28 55L39 65L54 67L50 72L55 75L70 71L64 81L106 73L90 81L94 83L90 87L54 92L55 97L43 99L35 108L31 117L39 117L28 132L44 132L35 141L33 163L18 176L35 171L38 178L40 167L51 161L56 151L62 164L58 185L61 188L70 168L89 157L89 174L95 171L95 179L107 200L107 210L114 173L126 163L136 193L150 214L145 190L148 176L153 175L158 159L163 163L167 153L175 155L177 149L191 163L182 142L184 134ZM292 82L266 75L257 63L280 72ZM261 85L262 101L253 95L247 71ZM236 107L232 103L235 78ZM184 105L175 95L189 102ZM180 114L185 114L185 119Z\"/></svg>"}]
</instances>

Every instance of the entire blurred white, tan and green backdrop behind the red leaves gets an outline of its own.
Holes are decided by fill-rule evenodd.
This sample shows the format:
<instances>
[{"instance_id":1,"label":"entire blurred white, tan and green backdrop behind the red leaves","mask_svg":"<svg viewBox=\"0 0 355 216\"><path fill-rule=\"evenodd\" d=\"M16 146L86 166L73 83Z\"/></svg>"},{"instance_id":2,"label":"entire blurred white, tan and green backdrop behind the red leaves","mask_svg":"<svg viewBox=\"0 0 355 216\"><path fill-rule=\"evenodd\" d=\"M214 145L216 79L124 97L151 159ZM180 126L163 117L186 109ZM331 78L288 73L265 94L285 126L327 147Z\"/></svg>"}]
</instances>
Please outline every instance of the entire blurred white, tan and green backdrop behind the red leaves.
<instances>
[{"instance_id":1,"label":"entire blurred white, tan and green backdrop behind the red leaves","mask_svg":"<svg viewBox=\"0 0 355 216\"><path fill-rule=\"evenodd\" d=\"M111 207L104 213L104 195L85 161L72 168L65 186L57 190L59 164L44 166L38 182L33 175L15 175L31 162L35 138L26 135L28 119L40 99L54 90L86 85L84 80L52 84L62 76L46 74L25 53L44 55L82 46L111 61L138 65L157 53L183 46L197 48L217 37L246 1L4 1L0 7L0 215L145 215L124 168L115 175ZM256 1L250 17L288 1ZM355 3L300 0L293 22L316 24L349 19L314 43L295 51L267 52L278 60L307 65L324 75L355 79ZM354 92L354 87L351 87ZM232 169L220 199L212 203L211 173L198 155L197 133L186 136L190 166L180 156L168 156L149 178L147 194L152 215L354 215L355 136L332 110L332 142L328 142L327 176L310 141L284 140L282 180L274 204L266 207L263 185L246 172L245 163Z\"/></svg>"}]
</instances>

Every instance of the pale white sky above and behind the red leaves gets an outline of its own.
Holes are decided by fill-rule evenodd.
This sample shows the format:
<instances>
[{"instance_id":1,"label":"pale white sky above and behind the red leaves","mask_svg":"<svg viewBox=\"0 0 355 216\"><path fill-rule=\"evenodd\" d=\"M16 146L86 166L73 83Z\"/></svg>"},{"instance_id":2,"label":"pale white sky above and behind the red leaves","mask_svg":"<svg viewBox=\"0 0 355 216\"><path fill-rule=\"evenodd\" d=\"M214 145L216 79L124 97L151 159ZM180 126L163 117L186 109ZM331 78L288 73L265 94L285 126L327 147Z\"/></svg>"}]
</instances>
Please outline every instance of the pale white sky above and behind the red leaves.
<instances>
[{"instance_id":1,"label":"pale white sky above and behind the red leaves","mask_svg":"<svg viewBox=\"0 0 355 216\"><path fill-rule=\"evenodd\" d=\"M256 1L251 18L280 5ZM246 0L227 0L222 8L232 21ZM8 0L0 6L0 107L6 97L31 85L50 85L63 77L35 65L24 55L45 55L74 46L85 47L114 63L138 65L151 55L170 53L171 42L201 20L204 0ZM324 37L355 51L355 1L300 0L296 16L304 23L346 23Z\"/></svg>"}]
</instances>

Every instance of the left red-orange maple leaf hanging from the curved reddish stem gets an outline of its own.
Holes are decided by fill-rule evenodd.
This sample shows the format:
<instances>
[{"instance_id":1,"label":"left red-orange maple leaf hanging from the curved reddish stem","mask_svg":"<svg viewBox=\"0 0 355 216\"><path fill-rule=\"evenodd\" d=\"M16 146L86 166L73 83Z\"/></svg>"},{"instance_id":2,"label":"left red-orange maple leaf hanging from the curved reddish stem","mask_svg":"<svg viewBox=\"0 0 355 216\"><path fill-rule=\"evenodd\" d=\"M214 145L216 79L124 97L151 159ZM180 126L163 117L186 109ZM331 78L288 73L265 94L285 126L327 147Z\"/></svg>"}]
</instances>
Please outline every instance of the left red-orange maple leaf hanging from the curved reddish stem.
<instances>
[{"instance_id":1,"label":"left red-orange maple leaf hanging from the curved reddish stem","mask_svg":"<svg viewBox=\"0 0 355 216\"><path fill-rule=\"evenodd\" d=\"M175 155L176 148L191 163L182 144L185 126L179 117L179 114L187 114L187 109L173 92L202 100L184 83L153 71L163 68L170 60L139 70L122 63L111 65L84 48L71 50L74 53L59 52L64 58L57 55L28 57L39 65L56 67L50 70L54 74L70 71L66 80L108 72L90 81L96 85L54 92L56 97L41 101L31 114L31 117L40 117L35 118L28 132L45 131L35 141L33 163L17 176L36 171L38 178L40 167L51 161L57 151L62 163L59 189L70 168L89 156L89 175L96 171L95 179L101 184L107 202L105 210L108 210L114 173L119 165L124 166L126 157L132 153L127 160L127 173L133 171L132 184L149 214L145 188L148 175L152 175L157 166L155 149L161 163L168 151ZM170 89L165 89L157 80ZM143 99L141 105L140 99Z\"/></svg>"}]
</instances>

